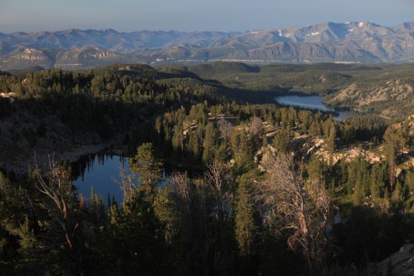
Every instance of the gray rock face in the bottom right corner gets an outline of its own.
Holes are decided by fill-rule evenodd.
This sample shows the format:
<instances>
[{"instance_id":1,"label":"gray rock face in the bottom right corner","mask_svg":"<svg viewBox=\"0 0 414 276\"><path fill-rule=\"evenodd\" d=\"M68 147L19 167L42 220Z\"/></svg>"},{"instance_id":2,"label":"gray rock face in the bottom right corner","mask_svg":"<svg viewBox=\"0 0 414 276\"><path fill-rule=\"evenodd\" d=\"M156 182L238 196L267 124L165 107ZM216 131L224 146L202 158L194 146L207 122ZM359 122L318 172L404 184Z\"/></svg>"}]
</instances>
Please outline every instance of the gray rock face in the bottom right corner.
<instances>
[{"instance_id":1,"label":"gray rock face in the bottom right corner","mask_svg":"<svg viewBox=\"0 0 414 276\"><path fill-rule=\"evenodd\" d=\"M371 275L378 276L413 276L414 275L414 244L404 244L390 257L373 267Z\"/></svg>"}]
</instances>

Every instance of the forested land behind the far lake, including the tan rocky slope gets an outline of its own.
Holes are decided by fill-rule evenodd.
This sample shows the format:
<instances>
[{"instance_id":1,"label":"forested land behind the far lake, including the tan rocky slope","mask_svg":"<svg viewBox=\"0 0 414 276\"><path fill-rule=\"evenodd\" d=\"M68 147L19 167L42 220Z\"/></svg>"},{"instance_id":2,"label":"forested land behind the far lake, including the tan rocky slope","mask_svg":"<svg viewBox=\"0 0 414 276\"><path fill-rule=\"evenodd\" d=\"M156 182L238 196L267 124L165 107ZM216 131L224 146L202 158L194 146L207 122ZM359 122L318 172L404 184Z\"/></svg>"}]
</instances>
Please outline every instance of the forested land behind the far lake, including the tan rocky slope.
<instances>
[{"instance_id":1,"label":"forested land behind the far lake, including the tan rocky slope","mask_svg":"<svg viewBox=\"0 0 414 276\"><path fill-rule=\"evenodd\" d=\"M213 62L181 68L205 79L243 90L327 95L336 108L384 117L410 115L414 106L411 64L270 64Z\"/></svg>"}]
</instances>

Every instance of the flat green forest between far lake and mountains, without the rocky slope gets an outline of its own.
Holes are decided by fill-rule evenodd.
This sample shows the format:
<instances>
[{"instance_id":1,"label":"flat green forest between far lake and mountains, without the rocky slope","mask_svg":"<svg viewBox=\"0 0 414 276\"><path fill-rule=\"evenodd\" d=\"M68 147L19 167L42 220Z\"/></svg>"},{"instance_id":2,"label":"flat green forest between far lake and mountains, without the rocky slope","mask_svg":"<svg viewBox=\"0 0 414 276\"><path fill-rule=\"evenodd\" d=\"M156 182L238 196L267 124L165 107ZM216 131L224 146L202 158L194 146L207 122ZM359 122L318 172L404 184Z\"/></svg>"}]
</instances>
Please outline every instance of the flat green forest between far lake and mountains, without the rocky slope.
<instances>
[{"instance_id":1,"label":"flat green forest between far lake and mountains, without the rocky slope","mask_svg":"<svg viewBox=\"0 0 414 276\"><path fill-rule=\"evenodd\" d=\"M250 90L290 90L327 94L351 83L375 83L412 77L411 64L283 64L253 66L237 62L216 61L184 67L205 79L217 79L228 86Z\"/></svg>"}]
</instances>

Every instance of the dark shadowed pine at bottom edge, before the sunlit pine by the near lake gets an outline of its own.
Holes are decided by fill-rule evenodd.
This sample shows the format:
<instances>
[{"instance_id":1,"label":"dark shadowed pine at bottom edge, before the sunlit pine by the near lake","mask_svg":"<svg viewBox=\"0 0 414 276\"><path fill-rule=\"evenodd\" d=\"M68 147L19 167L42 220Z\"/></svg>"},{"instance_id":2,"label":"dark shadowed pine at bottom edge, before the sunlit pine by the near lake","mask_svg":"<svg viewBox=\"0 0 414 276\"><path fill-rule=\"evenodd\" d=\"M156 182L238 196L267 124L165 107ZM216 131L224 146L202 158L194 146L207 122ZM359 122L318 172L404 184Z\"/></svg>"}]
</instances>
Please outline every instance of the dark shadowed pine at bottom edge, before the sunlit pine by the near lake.
<instances>
[{"instance_id":1,"label":"dark shadowed pine at bottom edge, before the sunlit pine by the near lake","mask_svg":"<svg viewBox=\"0 0 414 276\"><path fill-rule=\"evenodd\" d=\"M115 210L112 211L117 214ZM126 275L166 275L168 259L163 224L157 219L146 190L137 188L119 215L112 215L117 263Z\"/></svg>"}]
</instances>

